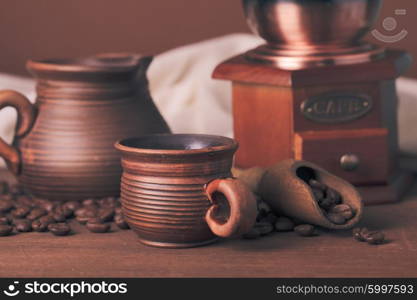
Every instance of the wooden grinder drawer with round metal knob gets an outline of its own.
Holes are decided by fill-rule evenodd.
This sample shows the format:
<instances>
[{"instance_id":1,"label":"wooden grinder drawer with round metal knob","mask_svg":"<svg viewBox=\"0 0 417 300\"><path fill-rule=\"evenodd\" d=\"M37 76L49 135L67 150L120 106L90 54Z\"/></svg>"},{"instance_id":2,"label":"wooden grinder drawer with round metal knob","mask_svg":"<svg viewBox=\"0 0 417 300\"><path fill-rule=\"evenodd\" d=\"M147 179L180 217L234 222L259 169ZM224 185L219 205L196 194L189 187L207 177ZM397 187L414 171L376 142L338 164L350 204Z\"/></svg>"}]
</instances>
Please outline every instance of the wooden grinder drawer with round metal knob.
<instances>
[{"instance_id":1,"label":"wooden grinder drawer with round metal knob","mask_svg":"<svg viewBox=\"0 0 417 300\"><path fill-rule=\"evenodd\" d=\"M296 159L316 163L353 184L388 180L387 129L299 132L294 152Z\"/></svg>"}]
</instances>

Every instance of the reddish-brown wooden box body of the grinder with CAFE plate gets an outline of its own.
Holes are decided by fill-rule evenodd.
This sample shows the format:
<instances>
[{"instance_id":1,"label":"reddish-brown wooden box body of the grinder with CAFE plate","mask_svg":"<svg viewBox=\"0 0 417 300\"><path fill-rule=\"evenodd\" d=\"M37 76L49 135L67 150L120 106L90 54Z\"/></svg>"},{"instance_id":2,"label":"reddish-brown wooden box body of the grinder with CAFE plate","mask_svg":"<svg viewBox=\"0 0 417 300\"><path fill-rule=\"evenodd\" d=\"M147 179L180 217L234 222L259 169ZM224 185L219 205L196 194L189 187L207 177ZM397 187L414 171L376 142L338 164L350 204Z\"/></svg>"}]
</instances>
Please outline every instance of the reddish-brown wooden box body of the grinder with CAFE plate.
<instances>
[{"instance_id":1,"label":"reddish-brown wooden box body of the grinder with CAFE plate","mask_svg":"<svg viewBox=\"0 0 417 300\"><path fill-rule=\"evenodd\" d=\"M233 82L236 166L307 160L358 187L367 204L400 198L395 79L410 56L386 50L366 63L284 70L239 55L214 78Z\"/></svg>"}]
</instances>

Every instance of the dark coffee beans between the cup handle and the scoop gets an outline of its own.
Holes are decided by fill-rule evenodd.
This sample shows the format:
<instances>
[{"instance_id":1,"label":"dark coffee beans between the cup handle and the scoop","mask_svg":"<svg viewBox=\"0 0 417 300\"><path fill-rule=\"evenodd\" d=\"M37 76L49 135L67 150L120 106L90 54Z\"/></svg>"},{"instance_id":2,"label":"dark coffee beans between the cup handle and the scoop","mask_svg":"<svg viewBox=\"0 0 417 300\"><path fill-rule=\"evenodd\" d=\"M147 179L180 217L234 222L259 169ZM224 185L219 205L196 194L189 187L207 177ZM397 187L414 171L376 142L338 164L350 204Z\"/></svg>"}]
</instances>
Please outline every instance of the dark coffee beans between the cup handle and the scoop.
<instances>
[{"instance_id":1,"label":"dark coffee beans between the cup handle and the scoop","mask_svg":"<svg viewBox=\"0 0 417 300\"><path fill-rule=\"evenodd\" d=\"M270 206L258 198L258 216L254 227L243 235L244 239L257 239L273 232L294 231L300 236L316 236L317 230L313 225L303 224L285 216L276 215Z\"/></svg>"}]
</instances>

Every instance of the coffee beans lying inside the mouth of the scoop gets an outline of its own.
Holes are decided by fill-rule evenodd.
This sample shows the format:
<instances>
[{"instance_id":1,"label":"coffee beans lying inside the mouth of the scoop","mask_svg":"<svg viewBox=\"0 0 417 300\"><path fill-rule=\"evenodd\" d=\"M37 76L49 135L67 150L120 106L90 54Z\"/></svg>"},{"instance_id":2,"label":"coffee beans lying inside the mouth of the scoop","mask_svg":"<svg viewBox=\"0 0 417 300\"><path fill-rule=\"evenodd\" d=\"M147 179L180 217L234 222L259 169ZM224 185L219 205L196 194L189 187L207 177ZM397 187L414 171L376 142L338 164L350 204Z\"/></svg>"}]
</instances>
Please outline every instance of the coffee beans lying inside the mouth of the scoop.
<instances>
[{"instance_id":1,"label":"coffee beans lying inside the mouth of the scoop","mask_svg":"<svg viewBox=\"0 0 417 300\"><path fill-rule=\"evenodd\" d=\"M343 203L343 198L338 191L315 179L310 179L308 184L315 200L330 222L343 225L355 216L353 208Z\"/></svg>"}]
</instances>

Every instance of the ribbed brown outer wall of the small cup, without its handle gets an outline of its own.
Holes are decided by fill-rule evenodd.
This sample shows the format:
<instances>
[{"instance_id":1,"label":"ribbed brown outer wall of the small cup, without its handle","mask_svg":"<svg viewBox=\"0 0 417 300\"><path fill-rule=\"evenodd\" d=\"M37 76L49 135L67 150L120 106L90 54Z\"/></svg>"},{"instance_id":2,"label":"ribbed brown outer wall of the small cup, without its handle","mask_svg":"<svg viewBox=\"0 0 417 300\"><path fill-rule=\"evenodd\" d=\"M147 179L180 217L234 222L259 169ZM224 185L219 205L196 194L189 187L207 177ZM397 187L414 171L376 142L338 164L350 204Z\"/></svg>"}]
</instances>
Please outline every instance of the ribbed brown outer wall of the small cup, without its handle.
<instances>
[{"instance_id":1,"label":"ribbed brown outer wall of the small cup, without its handle","mask_svg":"<svg viewBox=\"0 0 417 300\"><path fill-rule=\"evenodd\" d=\"M204 186L230 177L234 151L159 157L123 153L122 209L140 240L191 247L215 239L205 221L211 203Z\"/></svg>"}]
</instances>

